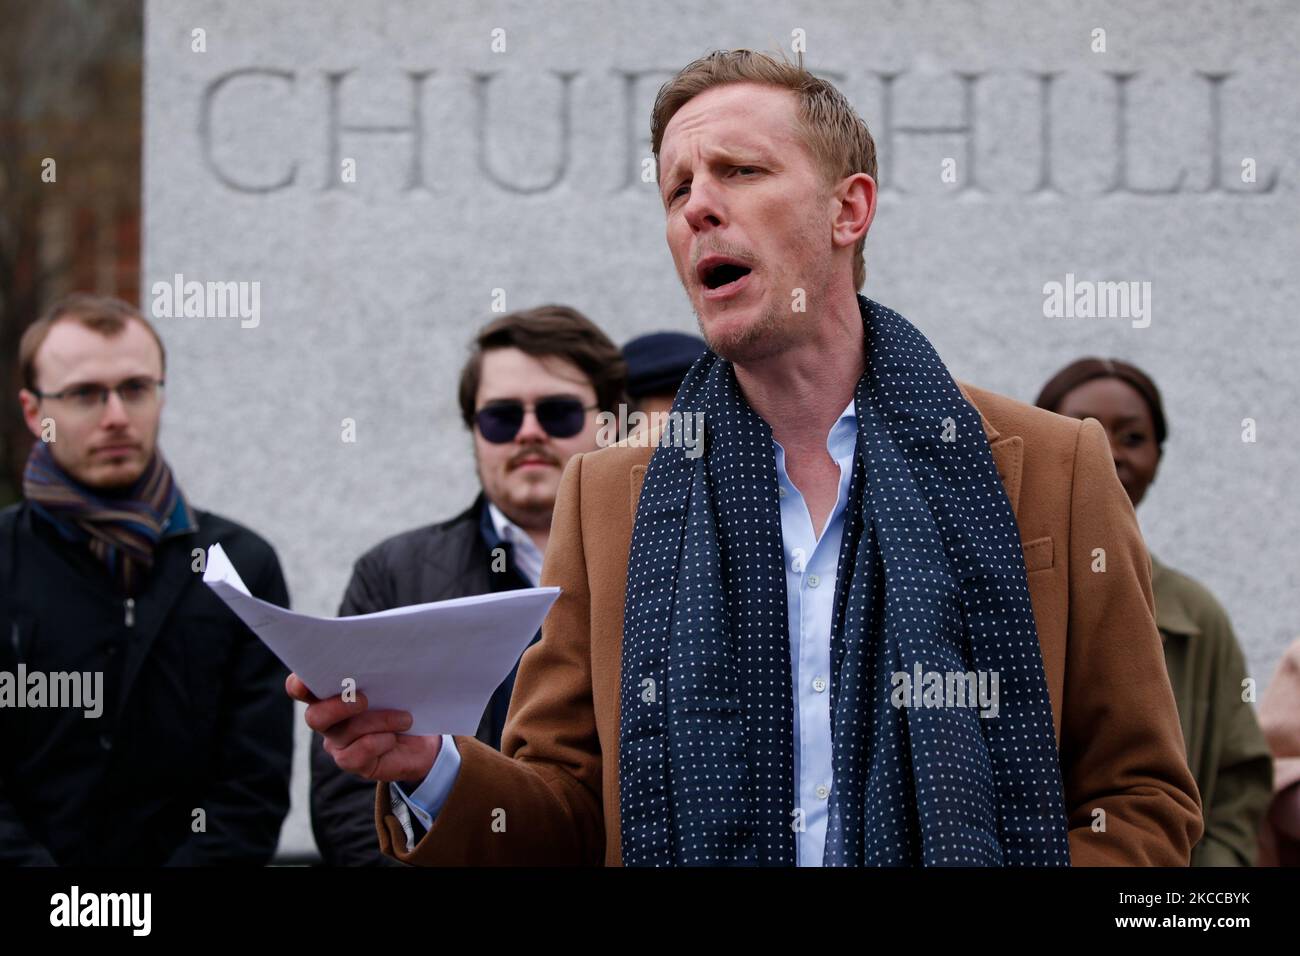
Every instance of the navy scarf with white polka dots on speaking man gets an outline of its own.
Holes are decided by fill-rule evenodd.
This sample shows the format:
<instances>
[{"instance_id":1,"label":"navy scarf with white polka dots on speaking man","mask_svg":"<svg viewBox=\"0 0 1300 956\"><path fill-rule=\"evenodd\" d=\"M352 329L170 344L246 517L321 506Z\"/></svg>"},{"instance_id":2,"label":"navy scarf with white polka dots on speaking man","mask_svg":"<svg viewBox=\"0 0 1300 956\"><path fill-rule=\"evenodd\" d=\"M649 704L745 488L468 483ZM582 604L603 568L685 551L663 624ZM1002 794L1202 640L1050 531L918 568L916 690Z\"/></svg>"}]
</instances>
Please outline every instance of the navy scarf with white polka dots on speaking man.
<instances>
[{"instance_id":1,"label":"navy scarf with white polka dots on speaking man","mask_svg":"<svg viewBox=\"0 0 1300 956\"><path fill-rule=\"evenodd\" d=\"M1067 866L1019 531L979 414L915 326L858 300L868 358L831 635L824 862ZM711 351L673 410L705 414L705 454L689 457L670 429L637 509L623 861L794 865L802 813L772 431ZM997 675L996 717L948 692L959 684L948 675L971 672ZM901 693L901 674L926 675L927 691L937 674L944 692Z\"/></svg>"}]
</instances>

